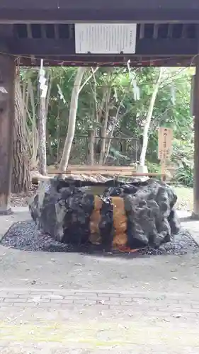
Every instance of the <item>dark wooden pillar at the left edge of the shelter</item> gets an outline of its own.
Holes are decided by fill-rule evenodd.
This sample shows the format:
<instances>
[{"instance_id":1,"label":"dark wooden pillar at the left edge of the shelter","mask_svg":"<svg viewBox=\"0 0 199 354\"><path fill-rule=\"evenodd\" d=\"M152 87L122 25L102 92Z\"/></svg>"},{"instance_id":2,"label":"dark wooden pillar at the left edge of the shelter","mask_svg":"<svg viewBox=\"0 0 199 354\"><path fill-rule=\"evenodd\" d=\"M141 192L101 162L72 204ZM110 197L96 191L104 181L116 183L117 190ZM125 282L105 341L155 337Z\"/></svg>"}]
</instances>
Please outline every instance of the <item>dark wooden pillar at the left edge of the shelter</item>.
<instances>
[{"instance_id":1,"label":"dark wooden pillar at the left edge of the shelter","mask_svg":"<svg viewBox=\"0 0 199 354\"><path fill-rule=\"evenodd\" d=\"M14 58L0 55L0 215L11 213L15 74Z\"/></svg>"}]
</instances>

